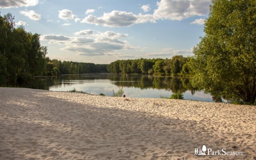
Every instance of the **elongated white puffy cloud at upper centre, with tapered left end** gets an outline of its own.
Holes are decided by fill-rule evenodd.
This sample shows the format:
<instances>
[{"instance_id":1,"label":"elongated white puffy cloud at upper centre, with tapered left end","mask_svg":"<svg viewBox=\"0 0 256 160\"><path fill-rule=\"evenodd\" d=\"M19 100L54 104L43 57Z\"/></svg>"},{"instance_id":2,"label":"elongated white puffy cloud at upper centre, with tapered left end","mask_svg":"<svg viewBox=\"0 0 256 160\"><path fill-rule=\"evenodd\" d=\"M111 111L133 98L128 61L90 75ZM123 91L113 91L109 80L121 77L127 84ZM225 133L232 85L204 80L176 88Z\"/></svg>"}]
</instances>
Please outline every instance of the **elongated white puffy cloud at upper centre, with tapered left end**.
<instances>
[{"instance_id":1,"label":"elongated white puffy cloud at upper centre, with tapered left end","mask_svg":"<svg viewBox=\"0 0 256 160\"><path fill-rule=\"evenodd\" d=\"M104 13L102 17L96 17L90 14L80 22L108 27L122 27L131 26L132 24L146 23L148 21L155 22L153 16L150 14L136 15L132 12L113 10L110 13Z\"/></svg>"}]
</instances>

